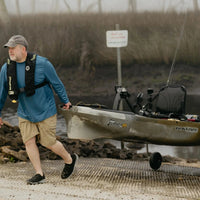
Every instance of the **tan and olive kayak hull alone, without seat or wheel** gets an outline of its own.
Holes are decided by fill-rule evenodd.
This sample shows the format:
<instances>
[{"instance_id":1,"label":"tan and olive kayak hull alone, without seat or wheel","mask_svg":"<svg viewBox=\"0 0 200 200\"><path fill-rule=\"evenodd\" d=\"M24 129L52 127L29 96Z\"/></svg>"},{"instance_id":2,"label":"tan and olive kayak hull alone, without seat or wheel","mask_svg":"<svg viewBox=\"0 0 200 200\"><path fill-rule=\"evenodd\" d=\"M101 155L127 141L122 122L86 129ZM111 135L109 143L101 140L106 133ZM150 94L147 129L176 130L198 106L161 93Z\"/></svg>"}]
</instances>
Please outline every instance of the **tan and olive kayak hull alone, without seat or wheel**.
<instances>
[{"instance_id":1,"label":"tan and olive kayak hull alone, without seat or wheel","mask_svg":"<svg viewBox=\"0 0 200 200\"><path fill-rule=\"evenodd\" d=\"M133 112L72 106L60 107L69 138L115 139L120 141L143 141L163 145L200 145L200 122L186 115L176 118L153 118Z\"/></svg>"}]
</instances>

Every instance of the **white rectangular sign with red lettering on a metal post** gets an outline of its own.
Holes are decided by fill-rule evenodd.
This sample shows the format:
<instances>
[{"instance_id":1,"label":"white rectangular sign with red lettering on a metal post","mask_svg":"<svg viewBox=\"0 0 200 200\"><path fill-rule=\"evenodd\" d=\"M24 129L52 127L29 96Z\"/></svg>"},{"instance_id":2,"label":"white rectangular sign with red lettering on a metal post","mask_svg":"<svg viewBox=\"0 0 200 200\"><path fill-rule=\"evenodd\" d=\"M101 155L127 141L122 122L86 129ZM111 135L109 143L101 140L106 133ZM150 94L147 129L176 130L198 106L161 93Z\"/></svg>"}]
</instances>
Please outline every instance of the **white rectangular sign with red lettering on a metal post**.
<instances>
[{"instance_id":1,"label":"white rectangular sign with red lettering on a metal post","mask_svg":"<svg viewBox=\"0 0 200 200\"><path fill-rule=\"evenodd\" d=\"M128 31L106 31L107 47L126 47L128 45Z\"/></svg>"}]
</instances>

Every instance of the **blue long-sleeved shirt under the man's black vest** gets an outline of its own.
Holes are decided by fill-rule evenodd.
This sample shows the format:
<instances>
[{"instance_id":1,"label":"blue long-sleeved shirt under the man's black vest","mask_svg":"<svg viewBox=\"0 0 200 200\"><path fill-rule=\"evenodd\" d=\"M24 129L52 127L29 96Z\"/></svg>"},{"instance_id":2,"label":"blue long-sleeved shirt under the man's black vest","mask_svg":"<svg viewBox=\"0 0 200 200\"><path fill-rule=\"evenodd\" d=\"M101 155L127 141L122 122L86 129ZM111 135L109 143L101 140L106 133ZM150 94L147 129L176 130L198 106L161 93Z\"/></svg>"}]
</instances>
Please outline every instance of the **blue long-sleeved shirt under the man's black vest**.
<instances>
[{"instance_id":1,"label":"blue long-sleeved shirt under the man's black vest","mask_svg":"<svg viewBox=\"0 0 200 200\"><path fill-rule=\"evenodd\" d=\"M25 62L17 63L16 68L18 87L24 88ZM65 87L57 76L53 65L48 61L48 59L37 56L35 66L35 85L44 81L49 82L49 85L47 84L36 89L33 96L27 97L24 92L19 94L17 109L19 117L27 119L31 122L40 122L56 114L57 109L53 90L58 95L62 103L65 104L69 102ZM0 116L7 94L7 64L5 63L0 72Z\"/></svg>"}]
</instances>

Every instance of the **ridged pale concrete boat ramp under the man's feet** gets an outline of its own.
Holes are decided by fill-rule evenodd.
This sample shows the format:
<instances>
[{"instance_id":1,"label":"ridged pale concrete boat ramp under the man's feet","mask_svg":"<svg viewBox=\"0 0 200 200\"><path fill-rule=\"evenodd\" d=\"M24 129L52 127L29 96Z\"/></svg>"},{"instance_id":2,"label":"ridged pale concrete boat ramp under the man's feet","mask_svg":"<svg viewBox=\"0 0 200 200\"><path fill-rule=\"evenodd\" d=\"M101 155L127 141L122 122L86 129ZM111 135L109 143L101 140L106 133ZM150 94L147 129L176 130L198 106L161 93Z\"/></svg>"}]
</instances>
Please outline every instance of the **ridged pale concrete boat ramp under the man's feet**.
<instances>
[{"instance_id":1,"label":"ridged pale concrete boat ramp under the man's feet","mask_svg":"<svg viewBox=\"0 0 200 200\"><path fill-rule=\"evenodd\" d=\"M146 161L80 158L75 173L60 178L61 160L42 161L46 183L27 185L29 162L0 165L0 200L197 200L200 168L164 164L152 171Z\"/></svg>"}]
</instances>

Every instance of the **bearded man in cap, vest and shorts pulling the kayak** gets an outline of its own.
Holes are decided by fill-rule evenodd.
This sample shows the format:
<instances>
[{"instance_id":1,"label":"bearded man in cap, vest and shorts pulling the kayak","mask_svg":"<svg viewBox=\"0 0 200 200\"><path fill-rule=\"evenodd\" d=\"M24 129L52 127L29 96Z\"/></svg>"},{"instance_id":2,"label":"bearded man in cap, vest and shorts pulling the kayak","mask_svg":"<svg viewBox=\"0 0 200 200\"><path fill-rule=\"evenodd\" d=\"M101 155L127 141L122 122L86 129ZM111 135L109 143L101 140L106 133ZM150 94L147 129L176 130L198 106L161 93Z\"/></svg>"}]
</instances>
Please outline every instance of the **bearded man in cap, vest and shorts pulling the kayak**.
<instances>
[{"instance_id":1,"label":"bearded man in cap, vest and shorts pulling the kayak","mask_svg":"<svg viewBox=\"0 0 200 200\"><path fill-rule=\"evenodd\" d=\"M36 171L27 184L45 181L37 140L63 158L65 166L61 178L68 178L73 173L78 157L76 154L70 155L56 140L57 110L52 90L64 104L63 108L69 109L71 103L64 85L46 58L27 52L28 42L22 35L12 36L4 47L8 48L9 59L0 72L0 127L3 125L1 110L9 95L13 103L18 102L20 132Z\"/></svg>"}]
</instances>

